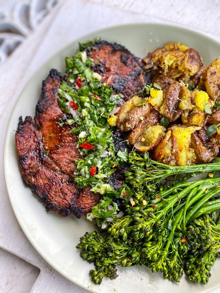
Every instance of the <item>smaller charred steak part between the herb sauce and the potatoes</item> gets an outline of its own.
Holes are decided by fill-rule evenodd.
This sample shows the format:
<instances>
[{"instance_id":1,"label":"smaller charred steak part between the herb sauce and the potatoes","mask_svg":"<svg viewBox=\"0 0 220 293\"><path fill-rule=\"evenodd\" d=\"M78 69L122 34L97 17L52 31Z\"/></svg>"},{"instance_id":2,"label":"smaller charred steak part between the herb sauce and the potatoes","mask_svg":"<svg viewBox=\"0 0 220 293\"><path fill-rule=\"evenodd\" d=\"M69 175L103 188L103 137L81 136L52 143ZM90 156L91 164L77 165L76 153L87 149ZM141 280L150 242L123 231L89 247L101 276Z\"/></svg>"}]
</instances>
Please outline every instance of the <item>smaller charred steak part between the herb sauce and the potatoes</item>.
<instances>
[{"instance_id":1,"label":"smaller charred steak part between the herb sauce and the potatoes","mask_svg":"<svg viewBox=\"0 0 220 293\"><path fill-rule=\"evenodd\" d=\"M143 73L143 61L121 45L98 41L87 55L94 59L92 70L102 75L102 82L114 93L122 93L125 101L142 91L144 83L150 84L151 73Z\"/></svg>"}]
</instances>

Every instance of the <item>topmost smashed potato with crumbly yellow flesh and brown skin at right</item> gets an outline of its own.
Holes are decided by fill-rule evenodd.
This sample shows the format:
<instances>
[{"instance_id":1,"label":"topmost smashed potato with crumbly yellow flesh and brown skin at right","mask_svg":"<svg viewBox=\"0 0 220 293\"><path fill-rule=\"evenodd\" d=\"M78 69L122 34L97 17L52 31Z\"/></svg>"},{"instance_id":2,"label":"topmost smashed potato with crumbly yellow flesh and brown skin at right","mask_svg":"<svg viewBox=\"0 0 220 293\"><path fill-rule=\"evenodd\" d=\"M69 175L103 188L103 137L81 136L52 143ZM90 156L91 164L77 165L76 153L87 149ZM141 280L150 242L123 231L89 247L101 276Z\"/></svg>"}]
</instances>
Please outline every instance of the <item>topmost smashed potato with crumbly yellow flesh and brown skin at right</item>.
<instances>
[{"instance_id":1,"label":"topmost smashed potato with crumbly yellow flesh and brown skin at right","mask_svg":"<svg viewBox=\"0 0 220 293\"><path fill-rule=\"evenodd\" d=\"M159 65L165 68L175 68L177 66L183 73L187 73L191 76L201 67L201 58L199 53L191 48L184 52L164 52L160 57Z\"/></svg>"}]
</instances>

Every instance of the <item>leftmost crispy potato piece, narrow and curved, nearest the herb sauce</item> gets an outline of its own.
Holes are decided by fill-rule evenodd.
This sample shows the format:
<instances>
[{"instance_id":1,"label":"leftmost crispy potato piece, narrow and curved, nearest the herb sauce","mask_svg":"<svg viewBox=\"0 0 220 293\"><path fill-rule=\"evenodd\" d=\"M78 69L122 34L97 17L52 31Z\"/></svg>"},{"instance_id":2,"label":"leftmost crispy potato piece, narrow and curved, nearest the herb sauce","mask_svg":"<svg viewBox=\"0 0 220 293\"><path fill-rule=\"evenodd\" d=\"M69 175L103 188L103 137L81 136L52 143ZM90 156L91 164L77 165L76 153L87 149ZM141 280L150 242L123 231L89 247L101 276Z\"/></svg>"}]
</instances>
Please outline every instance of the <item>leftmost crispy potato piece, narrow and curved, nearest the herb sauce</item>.
<instances>
[{"instance_id":1,"label":"leftmost crispy potato piece, narrow and curved, nearest the herb sauce","mask_svg":"<svg viewBox=\"0 0 220 293\"><path fill-rule=\"evenodd\" d=\"M120 130L125 131L125 125L124 125L125 118L140 102L142 102L142 99L138 96L134 96L133 98L131 98L129 101L127 101L121 106L121 108L119 109L117 113L117 119L116 119L116 125Z\"/></svg>"}]
</instances>

